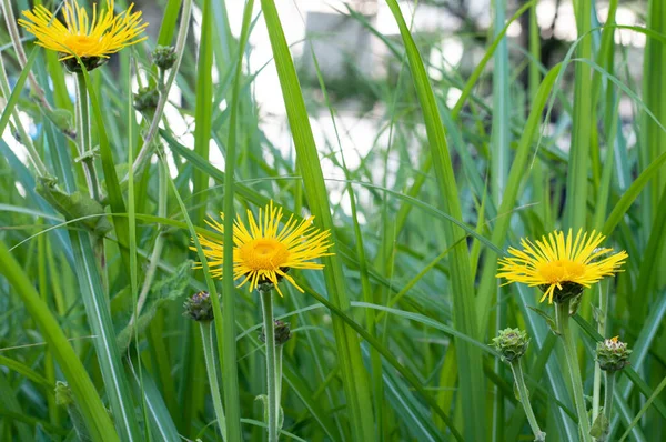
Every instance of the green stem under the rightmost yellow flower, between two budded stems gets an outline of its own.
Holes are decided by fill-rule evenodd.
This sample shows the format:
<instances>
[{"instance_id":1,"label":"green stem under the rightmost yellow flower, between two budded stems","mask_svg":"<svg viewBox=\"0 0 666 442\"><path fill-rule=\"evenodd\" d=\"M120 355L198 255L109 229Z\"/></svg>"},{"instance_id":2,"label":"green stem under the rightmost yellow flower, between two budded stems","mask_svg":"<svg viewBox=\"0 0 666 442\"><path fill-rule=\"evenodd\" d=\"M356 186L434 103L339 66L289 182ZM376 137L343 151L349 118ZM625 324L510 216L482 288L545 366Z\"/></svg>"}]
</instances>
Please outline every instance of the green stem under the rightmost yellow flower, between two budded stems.
<instances>
[{"instance_id":1,"label":"green stem under the rightmost yellow flower, between two budded stems","mask_svg":"<svg viewBox=\"0 0 666 442\"><path fill-rule=\"evenodd\" d=\"M578 369L574 336L572 334L572 329L569 328L569 301L556 303L555 318L557 320L557 329L559 330L562 342L564 344L567 370L572 380L574 402L576 403L576 413L578 414L578 431L581 432L581 440L584 442L591 442L592 436L589 435L589 421L587 419L585 396L583 394L583 379L581 378L581 371Z\"/></svg>"}]
</instances>

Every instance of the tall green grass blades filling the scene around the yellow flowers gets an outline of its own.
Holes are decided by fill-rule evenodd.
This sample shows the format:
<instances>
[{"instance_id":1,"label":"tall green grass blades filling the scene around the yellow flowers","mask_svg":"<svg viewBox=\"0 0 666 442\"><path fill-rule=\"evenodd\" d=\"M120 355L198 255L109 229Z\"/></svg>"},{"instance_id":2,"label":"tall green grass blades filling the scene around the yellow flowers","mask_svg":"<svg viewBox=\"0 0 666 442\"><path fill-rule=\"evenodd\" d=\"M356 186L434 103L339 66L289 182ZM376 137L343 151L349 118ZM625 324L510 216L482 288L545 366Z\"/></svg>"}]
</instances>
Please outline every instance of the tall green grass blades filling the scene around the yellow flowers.
<instances>
[{"instance_id":1,"label":"tall green grass blades filling the scene around the yellow flowers","mask_svg":"<svg viewBox=\"0 0 666 442\"><path fill-rule=\"evenodd\" d=\"M575 2L578 37L548 66L538 0L517 10L497 1L483 36L424 33L404 2L386 0L400 31L387 37L349 7L337 13L379 37L384 51L373 62L393 73L353 69L332 88L321 53L306 44L294 58L280 2L244 2L240 37L230 1L157 3L157 41L82 79L90 123L78 132L90 130L91 145L71 137L75 77L28 33L22 67L12 29L0 27L0 440L264 441L260 299L235 288L231 247L222 280L211 278L214 263L191 262L204 258L196 232L231 243L235 214L270 200L287 217L314 214L335 243L323 271L290 273L304 293L282 283L274 299L275 317L292 328L281 440L534 439L511 370L488 345L506 327L532 339L522 364L547 440L578 440L562 342L534 310L554 309L538 304L536 289L501 287L495 274L521 238L581 227L629 253L623 272L585 291L572 320L589 410L604 401L596 343L620 335L634 353L617 376L608 440L666 438L662 1L645 2L645 27L603 27L601 2ZM618 3L609 3L610 22ZM14 14L28 8L0 4ZM200 27L183 22L191 7L203 12ZM524 48L506 37L516 21L529 23ZM272 58L259 66L253 37L264 26L260 49ZM618 29L647 44L618 44ZM463 59L473 54L473 70L431 62L446 39L464 44ZM132 82L137 69L144 86L160 81L157 43L178 47L178 72L164 80L183 100L138 114ZM309 58L314 81L296 69ZM289 140L264 132L272 117L255 88L268 71L278 74ZM372 111L354 114L373 123L370 138L347 124L351 111L337 100L350 98L340 92L346 84L352 99L372 100ZM164 108L192 124L171 125ZM329 125L333 132L320 130ZM17 138L20 152L10 148ZM91 148L94 160L79 161ZM223 168L212 162L220 154ZM97 190L99 201L71 198ZM204 220L222 211L225 234L213 233ZM182 314L185 297L201 290L215 312L202 334ZM219 376L214 392L208 373ZM69 405L56 394L60 381Z\"/></svg>"}]
</instances>

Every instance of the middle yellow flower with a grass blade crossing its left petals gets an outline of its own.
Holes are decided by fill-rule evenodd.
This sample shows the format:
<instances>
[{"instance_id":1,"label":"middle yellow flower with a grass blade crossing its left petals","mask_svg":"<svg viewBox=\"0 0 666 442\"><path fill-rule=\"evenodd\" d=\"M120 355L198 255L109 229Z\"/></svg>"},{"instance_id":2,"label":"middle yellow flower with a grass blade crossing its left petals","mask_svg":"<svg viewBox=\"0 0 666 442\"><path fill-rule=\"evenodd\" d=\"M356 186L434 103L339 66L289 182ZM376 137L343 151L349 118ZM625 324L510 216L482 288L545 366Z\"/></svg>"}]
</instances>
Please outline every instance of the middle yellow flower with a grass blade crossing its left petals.
<instances>
[{"instance_id":1,"label":"middle yellow flower with a grass blade crossing its left petals","mask_svg":"<svg viewBox=\"0 0 666 442\"><path fill-rule=\"evenodd\" d=\"M224 220L224 213L220 213ZM280 229L282 208L276 208L271 201L263 210L259 210L259 222L248 210L248 225L243 224L239 214L233 224L233 279L242 279L238 287L250 282L250 291L258 284L273 283L282 295L278 282L283 278L303 292L286 272L290 269L323 269L323 264L312 262L320 257L329 257L327 250L333 245L329 231L320 231L312 225L314 217L299 222L294 217ZM224 225L213 219L206 223L220 233ZM213 277L222 278L224 244L221 241L198 234L203 253L211 268ZM191 247L191 250L196 248ZM201 269L201 263L195 265Z\"/></svg>"}]
</instances>

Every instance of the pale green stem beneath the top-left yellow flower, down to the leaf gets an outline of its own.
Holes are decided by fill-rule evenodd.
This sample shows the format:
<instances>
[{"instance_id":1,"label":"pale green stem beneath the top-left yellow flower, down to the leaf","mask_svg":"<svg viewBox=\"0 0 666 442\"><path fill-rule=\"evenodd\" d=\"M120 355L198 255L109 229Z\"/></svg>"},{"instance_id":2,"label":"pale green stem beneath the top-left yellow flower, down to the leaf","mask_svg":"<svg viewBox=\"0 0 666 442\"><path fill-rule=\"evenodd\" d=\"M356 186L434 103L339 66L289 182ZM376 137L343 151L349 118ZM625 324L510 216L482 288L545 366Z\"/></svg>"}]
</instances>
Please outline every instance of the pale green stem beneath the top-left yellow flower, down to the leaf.
<instances>
[{"instance_id":1,"label":"pale green stem beneath the top-left yellow flower, down to the leaf","mask_svg":"<svg viewBox=\"0 0 666 442\"><path fill-rule=\"evenodd\" d=\"M77 135L79 137L79 155L81 163L83 164L83 172L85 174L90 197L99 201L100 187L92 153L90 103L88 101L88 89L85 89L85 77L82 72L77 73Z\"/></svg>"}]
</instances>

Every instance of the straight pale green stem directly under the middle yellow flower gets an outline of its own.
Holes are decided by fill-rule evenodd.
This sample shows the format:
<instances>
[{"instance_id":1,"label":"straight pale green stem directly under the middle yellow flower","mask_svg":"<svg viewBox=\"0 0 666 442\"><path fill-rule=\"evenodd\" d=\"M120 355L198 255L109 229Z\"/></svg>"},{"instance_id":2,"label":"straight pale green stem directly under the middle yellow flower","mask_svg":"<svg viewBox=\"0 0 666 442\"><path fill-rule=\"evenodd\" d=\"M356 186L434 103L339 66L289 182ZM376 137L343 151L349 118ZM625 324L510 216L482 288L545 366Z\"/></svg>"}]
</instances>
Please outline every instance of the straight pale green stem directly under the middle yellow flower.
<instances>
[{"instance_id":1,"label":"straight pale green stem directly under the middle yellow flower","mask_svg":"<svg viewBox=\"0 0 666 442\"><path fill-rule=\"evenodd\" d=\"M278 379L275 354L275 329L273 320L273 293L271 290L259 290L263 312L264 335L266 336L266 386L269 408L269 442L278 442Z\"/></svg>"}]
</instances>

